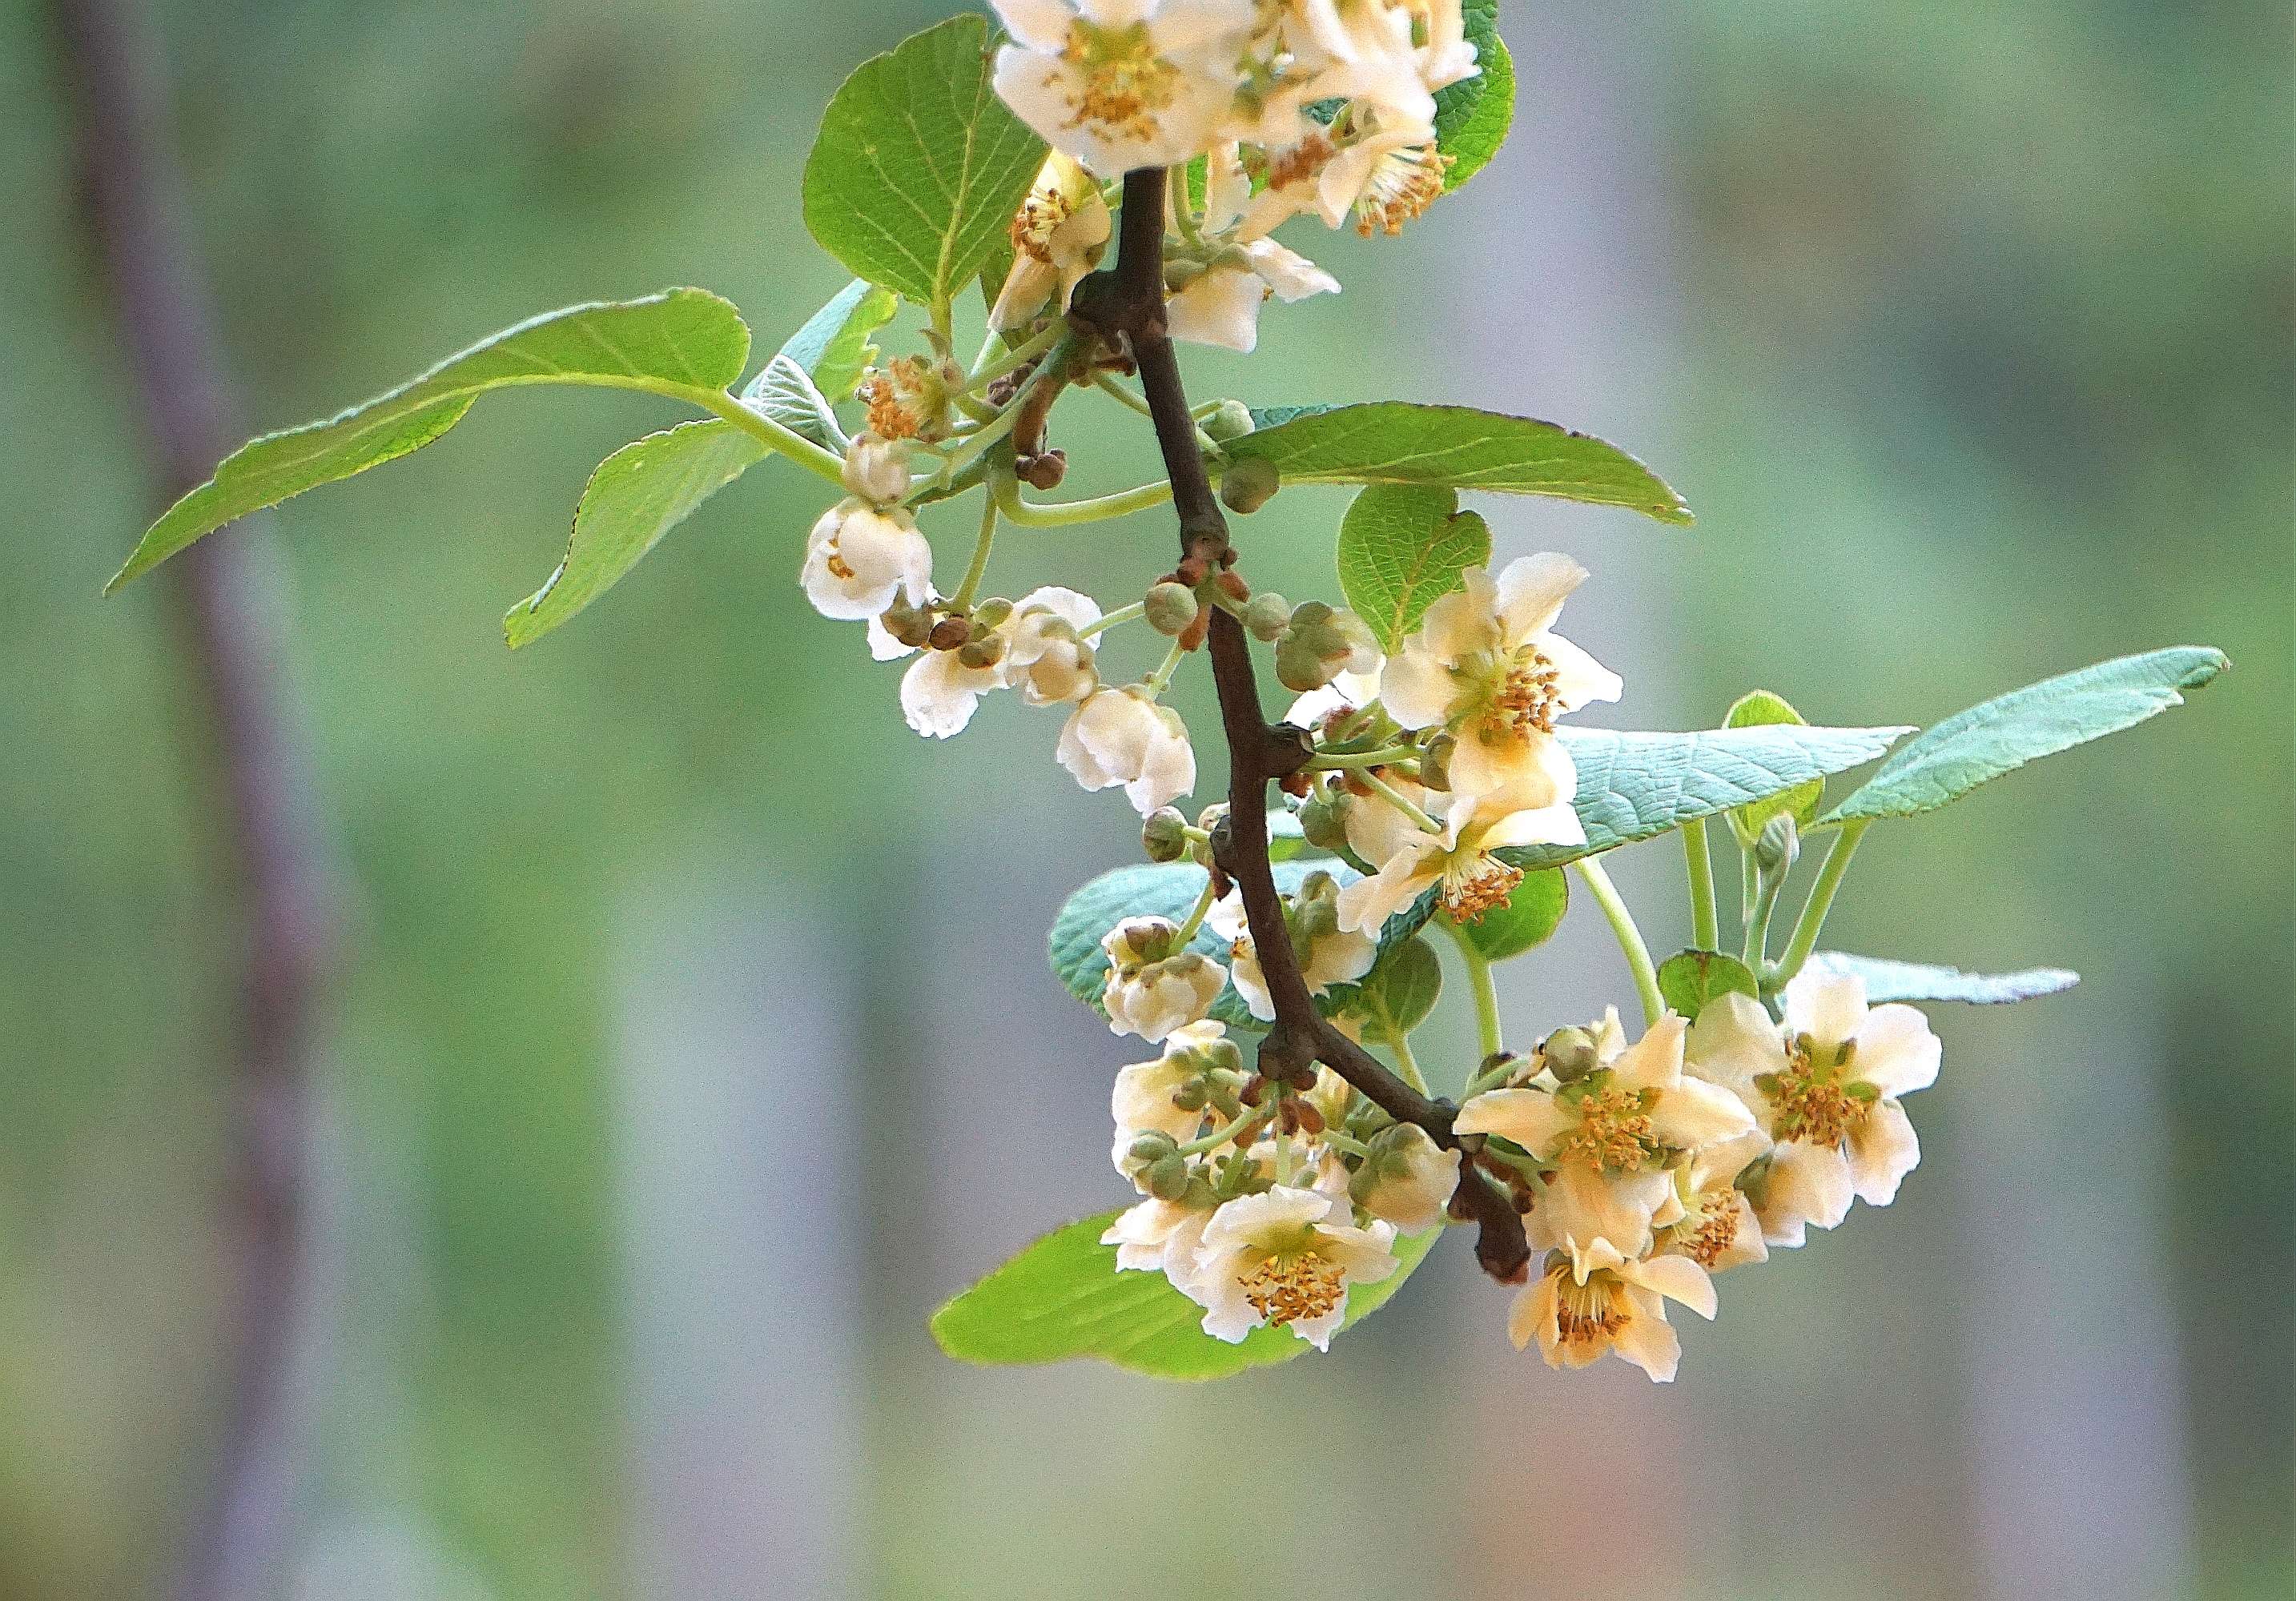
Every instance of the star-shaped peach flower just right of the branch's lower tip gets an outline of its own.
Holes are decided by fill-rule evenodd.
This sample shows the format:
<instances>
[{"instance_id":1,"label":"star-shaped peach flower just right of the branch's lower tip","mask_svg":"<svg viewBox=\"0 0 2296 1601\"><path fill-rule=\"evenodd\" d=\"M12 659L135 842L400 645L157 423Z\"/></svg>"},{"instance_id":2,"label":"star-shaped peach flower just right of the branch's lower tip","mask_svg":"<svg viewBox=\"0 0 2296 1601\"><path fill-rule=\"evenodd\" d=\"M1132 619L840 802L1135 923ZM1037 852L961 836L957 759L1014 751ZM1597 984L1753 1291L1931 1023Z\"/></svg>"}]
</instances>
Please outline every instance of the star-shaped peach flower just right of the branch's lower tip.
<instances>
[{"instance_id":1,"label":"star-shaped peach flower just right of the branch's lower tip","mask_svg":"<svg viewBox=\"0 0 2296 1601\"><path fill-rule=\"evenodd\" d=\"M1566 1083L1486 1090L1458 1108L1460 1133L1495 1133L1552 1167L1527 1225L1536 1245L1607 1241L1651 1248L1651 1218L1671 1211L1674 1167L1692 1151L1754 1133L1738 1096L1683 1073L1688 1025L1671 1012L1612 1057Z\"/></svg>"}]
</instances>

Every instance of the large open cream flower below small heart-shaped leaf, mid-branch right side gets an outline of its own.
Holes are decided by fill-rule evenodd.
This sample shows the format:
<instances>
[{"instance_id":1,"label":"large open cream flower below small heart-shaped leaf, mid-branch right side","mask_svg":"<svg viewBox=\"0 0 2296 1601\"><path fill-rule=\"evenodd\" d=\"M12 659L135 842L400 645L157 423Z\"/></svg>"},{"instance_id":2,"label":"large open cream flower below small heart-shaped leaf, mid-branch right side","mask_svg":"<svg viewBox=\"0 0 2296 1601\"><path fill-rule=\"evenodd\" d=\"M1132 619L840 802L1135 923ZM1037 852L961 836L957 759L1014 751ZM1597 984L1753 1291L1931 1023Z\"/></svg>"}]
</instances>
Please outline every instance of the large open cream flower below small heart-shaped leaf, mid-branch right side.
<instances>
[{"instance_id":1,"label":"large open cream flower below small heart-shaped leaf, mid-branch right side","mask_svg":"<svg viewBox=\"0 0 2296 1601\"><path fill-rule=\"evenodd\" d=\"M1593 700L1619 700L1619 674L1554 633L1587 580L1568 555L1525 555L1497 580L1469 567L1403 640L1380 674L1380 704L1407 729L1458 734L1451 789L1511 789L1520 805L1568 805L1570 755L1554 723Z\"/></svg>"}]
</instances>

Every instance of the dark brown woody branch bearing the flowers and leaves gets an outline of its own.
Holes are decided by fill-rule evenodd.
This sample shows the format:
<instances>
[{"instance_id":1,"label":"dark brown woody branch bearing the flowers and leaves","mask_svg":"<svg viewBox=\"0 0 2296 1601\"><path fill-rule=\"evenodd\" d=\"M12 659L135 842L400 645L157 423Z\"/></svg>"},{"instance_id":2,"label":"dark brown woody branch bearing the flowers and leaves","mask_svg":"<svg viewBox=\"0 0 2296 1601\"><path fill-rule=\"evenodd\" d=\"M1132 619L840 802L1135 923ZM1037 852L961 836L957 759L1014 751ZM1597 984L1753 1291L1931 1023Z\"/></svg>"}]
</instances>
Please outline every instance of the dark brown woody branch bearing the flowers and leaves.
<instances>
[{"instance_id":1,"label":"dark brown woody branch bearing the flowers and leaves","mask_svg":"<svg viewBox=\"0 0 2296 1601\"><path fill-rule=\"evenodd\" d=\"M1155 420L1171 502L1180 514L1178 576L1201 583L1235 562L1228 521L1196 447L1196 422L1180 385L1180 362L1164 330L1164 167L1125 174L1123 222L1116 261L1077 284L1070 314L1139 369L1148 413ZM1212 835L1212 860L1235 881L1251 927L1251 945L1274 1002L1274 1023L1261 1041L1258 1069L1270 1080L1309 1085L1316 1062L1355 1085L1396 1122L1419 1124L1444 1149L1469 1149L1474 1135L1451 1131L1458 1108L1396 1078L1384 1062L1316 1012L1300 956L1283 924L1283 899L1267 865L1267 784L1297 773L1309 755L1306 734L1270 725L1261 711L1251 642L1233 612L1212 610L1212 681L1219 688L1219 725L1228 743L1228 817ZM1469 1149L1472 1154L1472 1149ZM1463 1163L1453 1200L1481 1225L1476 1259L1499 1280L1515 1282L1529 1268L1529 1245L1515 1202L1474 1163Z\"/></svg>"}]
</instances>

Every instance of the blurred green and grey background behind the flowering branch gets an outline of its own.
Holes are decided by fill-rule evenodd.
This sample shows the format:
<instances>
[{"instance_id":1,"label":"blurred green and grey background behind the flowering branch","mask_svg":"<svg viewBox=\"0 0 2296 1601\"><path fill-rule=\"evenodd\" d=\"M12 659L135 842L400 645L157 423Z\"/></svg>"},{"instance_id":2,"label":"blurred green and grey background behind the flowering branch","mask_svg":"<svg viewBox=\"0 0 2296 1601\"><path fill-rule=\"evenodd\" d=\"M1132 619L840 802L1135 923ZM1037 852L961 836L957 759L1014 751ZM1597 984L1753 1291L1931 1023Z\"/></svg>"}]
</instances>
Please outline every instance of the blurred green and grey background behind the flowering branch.
<instances>
[{"instance_id":1,"label":"blurred green and grey background behind the flowering branch","mask_svg":"<svg viewBox=\"0 0 2296 1601\"><path fill-rule=\"evenodd\" d=\"M813 119L944 9L163 0L250 417L675 282L769 346L843 282L797 222ZM1134 819L1010 697L951 745L902 729L895 670L801 606L794 473L505 654L583 473L666 417L487 401L276 518L354 922L269 1594L2285 1601L2289 11L1504 25L1499 163L1401 241L1302 239L1345 294L1192 360L1196 392L1472 399L1651 459L1694 532L1483 507L1502 557L1596 569L1573 633L1630 693L1589 720L1697 727L1761 684L1931 723L2225 647L2190 709L1878 830L1830 929L2087 982L1938 1009L1899 1204L1678 1317L1671 1388L1511 1353L1458 1250L1332 1358L1217 1390L953 1365L939 1298L1120 1200L1132 1053L1038 952ZM96 601L156 484L30 2L0 213L0 1596L115 1599L165 1587L211 1468L239 945L161 585ZM1065 424L1075 486L1146 466L1102 411ZM1329 592L1341 505L1256 516L1254 578ZM1153 518L1010 534L996 580L1123 596L1162 550ZM1681 943L1674 846L1619 876ZM1520 1034L1628 998L1589 906L1502 977ZM1456 1067L1467 1018L1433 1028Z\"/></svg>"}]
</instances>

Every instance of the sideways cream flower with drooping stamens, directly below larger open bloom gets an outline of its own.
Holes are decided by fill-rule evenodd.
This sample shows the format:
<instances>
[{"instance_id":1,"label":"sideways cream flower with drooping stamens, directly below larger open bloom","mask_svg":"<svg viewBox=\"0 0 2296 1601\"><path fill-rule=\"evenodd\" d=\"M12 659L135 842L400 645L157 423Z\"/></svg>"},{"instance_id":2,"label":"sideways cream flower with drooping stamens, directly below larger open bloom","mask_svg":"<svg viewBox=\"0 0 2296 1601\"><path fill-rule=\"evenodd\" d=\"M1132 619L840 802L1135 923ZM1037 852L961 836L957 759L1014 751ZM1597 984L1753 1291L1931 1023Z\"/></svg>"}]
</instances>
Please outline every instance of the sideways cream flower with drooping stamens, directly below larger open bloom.
<instances>
[{"instance_id":1,"label":"sideways cream flower with drooping stamens, directly below larger open bloom","mask_svg":"<svg viewBox=\"0 0 2296 1601\"><path fill-rule=\"evenodd\" d=\"M1389 787L1396 787L1389 780ZM1417 823L1396 826L1382 812L1403 817L1382 796L1357 798L1348 807L1348 842L1357 837L1389 846L1375 856L1357 851L1378 872L1357 878L1339 892L1339 927L1375 934L1389 917L1417 901L1426 890L1440 885L1442 908L1453 922L1474 922L1488 911L1506 906L1522 869L1499 860L1492 851L1522 844L1582 844L1584 828L1566 803L1515 805L1513 796L1453 794L1442 833L1426 833Z\"/></svg>"}]
</instances>

